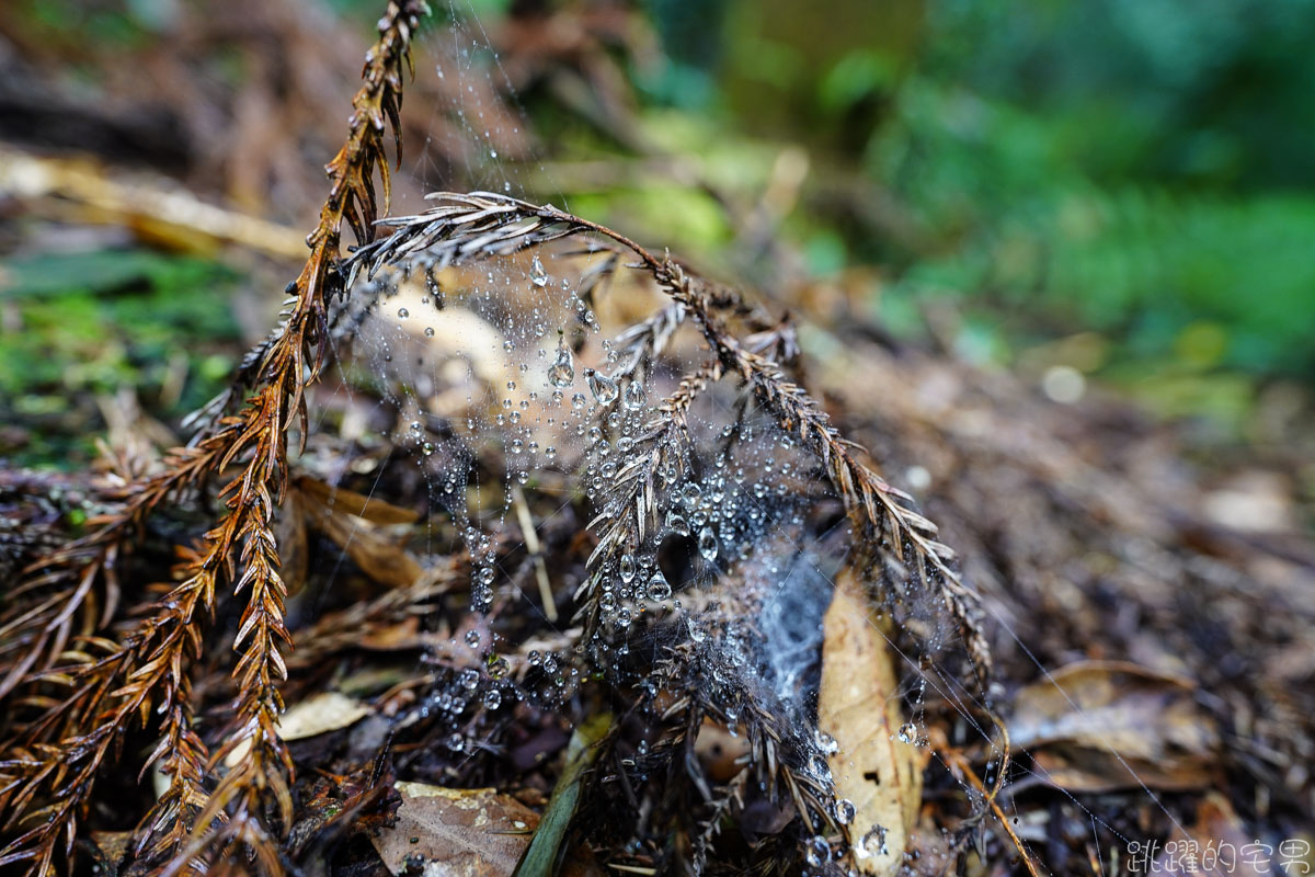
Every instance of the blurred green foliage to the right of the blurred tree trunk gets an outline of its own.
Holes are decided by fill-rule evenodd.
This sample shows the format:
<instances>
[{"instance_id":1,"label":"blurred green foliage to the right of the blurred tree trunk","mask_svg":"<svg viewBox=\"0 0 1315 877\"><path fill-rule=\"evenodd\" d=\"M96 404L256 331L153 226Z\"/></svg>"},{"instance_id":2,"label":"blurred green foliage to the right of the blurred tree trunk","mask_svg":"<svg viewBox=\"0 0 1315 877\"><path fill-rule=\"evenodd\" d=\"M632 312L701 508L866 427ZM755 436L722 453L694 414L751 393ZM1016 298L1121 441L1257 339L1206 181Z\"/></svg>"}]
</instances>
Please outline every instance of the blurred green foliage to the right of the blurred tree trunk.
<instances>
[{"instance_id":1,"label":"blurred green foliage to the right of the blurred tree trunk","mask_svg":"<svg viewBox=\"0 0 1315 877\"><path fill-rule=\"evenodd\" d=\"M940 239L889 254L903 291L1109 333L1124 363L1312 376L1315 3L938 8L865 156Z\"/></svg>"}]
</instances>

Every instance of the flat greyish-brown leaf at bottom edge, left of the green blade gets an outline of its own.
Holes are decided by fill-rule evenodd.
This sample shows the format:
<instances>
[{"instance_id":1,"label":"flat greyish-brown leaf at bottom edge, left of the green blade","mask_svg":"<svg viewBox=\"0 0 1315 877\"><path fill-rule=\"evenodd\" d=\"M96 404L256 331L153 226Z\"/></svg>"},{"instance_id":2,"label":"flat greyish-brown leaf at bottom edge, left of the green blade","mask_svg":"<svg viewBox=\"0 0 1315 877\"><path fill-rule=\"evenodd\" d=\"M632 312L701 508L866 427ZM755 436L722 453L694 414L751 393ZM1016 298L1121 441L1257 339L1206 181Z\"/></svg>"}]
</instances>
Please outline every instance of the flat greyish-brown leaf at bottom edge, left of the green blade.
<instances>
[{"instance_id":1,"label":"flat greyish-brown leaf at bottom edge, left of the green blade","mask_svg":"<svg viewBox=\"0 0 1315 877\"><path fill-rule=\"evenodd\" d=\"M423 866L426 874L505 877L539 824L539 814L493 789L443 789L398 782L397 822L372 838L394 874Z\"/></svg>"}]
</instances>

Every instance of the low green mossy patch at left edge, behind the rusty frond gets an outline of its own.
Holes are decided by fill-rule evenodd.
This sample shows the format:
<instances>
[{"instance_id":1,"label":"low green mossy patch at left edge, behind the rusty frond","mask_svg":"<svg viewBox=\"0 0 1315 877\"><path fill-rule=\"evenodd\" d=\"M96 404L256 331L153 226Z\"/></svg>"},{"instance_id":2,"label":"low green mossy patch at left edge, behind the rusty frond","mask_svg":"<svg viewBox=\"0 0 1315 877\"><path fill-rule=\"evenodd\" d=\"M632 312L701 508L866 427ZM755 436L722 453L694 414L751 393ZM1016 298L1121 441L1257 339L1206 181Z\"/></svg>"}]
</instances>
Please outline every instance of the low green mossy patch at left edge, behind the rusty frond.
<instances>
[{"instance_id":1,"label":"low green mossy patch at left edge, behind the rusty frond","mask_svg":"<svg viewBox=\"0 0 1315 877\"><path fill-rule=\"evenodd\" d=\"M0 421L20 463L84 464L95 397L134 388L143 408L178 418L222 389L238 327L235 275L216 263L145 250L34 254L0 272ZM59 425L60 429L50 429Z\"/></svg>"}]
</instances>

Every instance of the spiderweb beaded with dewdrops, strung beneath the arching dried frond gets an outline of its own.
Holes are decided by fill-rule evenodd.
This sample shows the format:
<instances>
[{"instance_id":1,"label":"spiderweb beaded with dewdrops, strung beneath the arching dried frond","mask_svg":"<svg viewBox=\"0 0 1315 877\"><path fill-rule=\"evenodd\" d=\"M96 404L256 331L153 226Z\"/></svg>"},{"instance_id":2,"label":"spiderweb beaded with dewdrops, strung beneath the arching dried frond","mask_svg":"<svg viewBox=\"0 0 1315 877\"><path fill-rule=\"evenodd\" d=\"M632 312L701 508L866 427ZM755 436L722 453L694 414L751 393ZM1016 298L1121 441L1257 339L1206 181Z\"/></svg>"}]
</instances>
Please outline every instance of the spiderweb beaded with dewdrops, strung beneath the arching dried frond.
<instances>
[{"instance_id":1,"label":"spiderweb beaded with dewdrops, strung beneath the arching dried frond","mask_svg":"<svg viewBox=\"0 0 1315 877\"><path fill-rule=\"evenodd\" d=\"M430 134L408 174L418 191L523 196L527 171L537 167L543 179L544 168L534 160L514 89L473 8L452 4L446 18L416 50L417 87L404 114L427 110ZM568 206L564 197L556 201ZM426 206L404 189L393 210ZM422 252L363 280L339 321L339 381L330 381L312 430L335 431L362 455L316 456L312 438L302 464L321 465L330 484L363 472L372 490L421 484L429 513L422 565L464 552L476 615L537 617L542 635L529 642L508 642L479 622L452 640L477 661L437 684L425 709L450 718L454 752L475 759L485 748L480 738L489 730L469 721L471 710L493 713L519 701L564 707L593 673L629 693L650 681L655 656L685 648L711 697L721 698L732 734L747 693L794 730L805 765L815 765L814 778L827 786L834 743L817 727L822 617L856 551L855 534L818 462L732 379L713 381L690 405L679 464L656 472L660 523L631 550L594 575L583 564L546 568L544 559L564 554L560 544L531 544L527 530L534 543L560 543L563 533L585 530L594 515L623 511L608 505L618 473L647 447L663 400L709 359L690 326L668 333L655 355L634 352L634 327L660 321L671 305L615 259L579 242L459 266ZM580 622L560 594L586 586L602 593L598 632L580 651L542 646L572 636ZM899 656L899 696L911 718L898 736L926 746L931 698L957 717L959 742L988 752L984 760L998 769L998 736L981 718L992 707L989 693L948 660L953 626L930 596L907 592L899 600L918 635L882 632ZM1007 619L989 623L1031 656ZM425 665L434 663L441 661ZM1013 770L1006 790L1018 778L1016 760ZM985 813L982 794L959 782L972 807ZM1181 828L1145 784L1141 789ZM1098 849L1111 836L1130 843L1068 797L1089 815ZM840 824L847 805L831 794L831 817ZM852 826L848 834L861 856L884 844L885 827ZM811 839L810 866L836 864L843 844L831 840ZM1103 868L1105 857L1097 861Z\"/></svg>"}]
</instances>

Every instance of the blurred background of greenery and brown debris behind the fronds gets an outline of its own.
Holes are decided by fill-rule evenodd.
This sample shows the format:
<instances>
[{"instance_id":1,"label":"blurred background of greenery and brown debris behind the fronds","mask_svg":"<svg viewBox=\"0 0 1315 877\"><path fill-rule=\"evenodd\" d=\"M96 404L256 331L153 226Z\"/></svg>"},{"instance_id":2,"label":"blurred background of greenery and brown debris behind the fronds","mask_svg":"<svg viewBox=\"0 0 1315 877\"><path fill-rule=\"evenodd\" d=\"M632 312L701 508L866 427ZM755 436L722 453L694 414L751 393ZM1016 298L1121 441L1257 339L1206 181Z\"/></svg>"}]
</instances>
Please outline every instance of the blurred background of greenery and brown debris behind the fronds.
<instances>
[{"instance_id":1,"label":"blurred background of greenery and brown debris behind the fronds","mask_svg":"<svg viewBox=\"0 0 1315 877\"><path fill-rule=\"evenodd\" d=\"M377 7L0 5L0 455L80 465L107 394L167 426L222 385ZM402 208L501 180L818 325L1311 459L1315 0L462 0L426 30Z\"/></svg>"}]
</instances>

